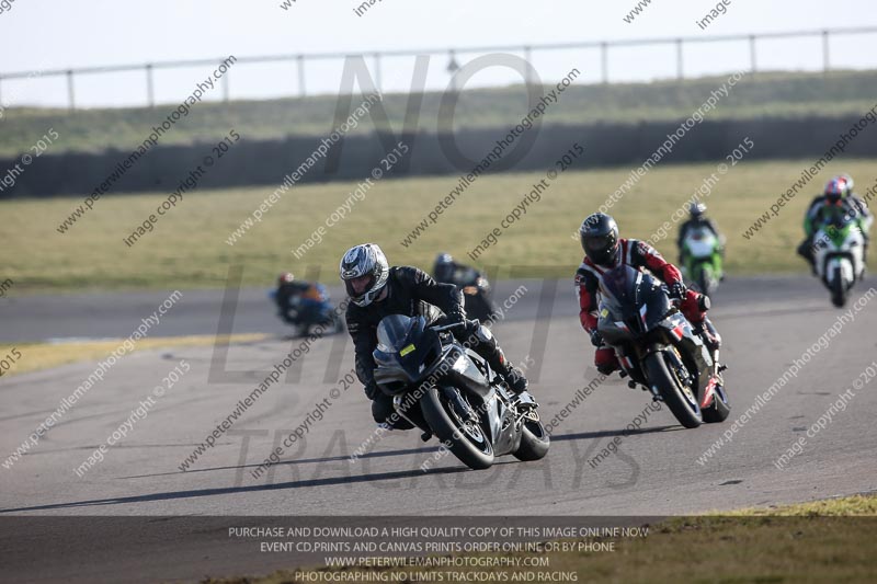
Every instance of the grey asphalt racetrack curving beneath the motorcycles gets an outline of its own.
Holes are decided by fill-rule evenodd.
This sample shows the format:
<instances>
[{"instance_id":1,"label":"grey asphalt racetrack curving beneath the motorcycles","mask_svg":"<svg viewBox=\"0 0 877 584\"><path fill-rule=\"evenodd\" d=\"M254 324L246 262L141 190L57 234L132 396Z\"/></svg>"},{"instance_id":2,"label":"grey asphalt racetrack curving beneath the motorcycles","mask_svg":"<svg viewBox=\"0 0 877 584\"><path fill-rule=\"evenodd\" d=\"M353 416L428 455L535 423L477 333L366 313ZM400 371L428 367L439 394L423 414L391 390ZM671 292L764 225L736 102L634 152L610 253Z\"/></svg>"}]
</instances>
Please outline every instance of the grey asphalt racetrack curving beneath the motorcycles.
<instances>
[{"instance_id":1,"label":"grey asphalt racetrack curving beneath the motorcycles","mask_svg":"<svg viewBox=\"0 0 877 584\"><path fill-rule=\"evenodd\" d=\"M182 471L179 466L238 400L300 346L301 340L284 337L288 331L274 317L264 290L242 290L230 332L267 332L275 337L232 345L225 356L214 346L203 346L143 351L119 359L35 447L10 468L0 467L0 517L682 515L873 491L877 383L864 383L859 377L877 359L877 295L864 300L873 285L877 286L873 279L859 284L847 307L835 309L827 290L811 278L753 277L722 284L710 314L724 337L722 360L730 367L726 381L733 410L724 424L684 430L664 408L649 412L638 430L628 431L651 399L613 376L560 421L542 461L522 463L505 457L490 470L469 471L447 456L423 472L420 466L433 456L436 442L424 444L414 432L392 432L371 454L351 462L349 456L373 434L374 423L358 383L345 389L339 381L353 367L352 344L344 333L314 343L286 378ZM516 289L517 301L493 330L513 362L528 357L533 363L527 371L532 392L543 420L549 421L596 377L593 348L579 324L570 282L500 282L494 299L501 305ZM340 290L333 293L340 298ZM3 301L0 340L128 336L167 296L156 291ZM150 336L216 334L221 298L221 290L184 291ZM859 298L856 310L853 305ZM850 316L838 334L827 339L844 313ZM711 458L701 458L820 337L827 339L825 346L811 348L798 376L738 424ZM129 420L132 410L152 396L181 359L191 370L153 400L148 415L107 449L105 460L78 477L73 469ZM94 363L80 363L0 379L0 461L94 369ZM845 409L808 436L847 389L854 396ZM309 424L281 462L254 479L251 472L272 448L324 399L331 404L322 420ZM777 469L776 459L801 436L807 436L802 451ZM617 453L589 462L614 438L620 438ZM200 559L210 556L207 543L216 537L196 534L185 541L136 547L112 529L79 534L72 526L59 526L56 556L46 561L46 550L29 552L22 543L22 538L39 534L22 529L0 535L7 556L0 573L35 582L103 580L113 570L132 582L194 580L206 573ZM78 553L73 541L82 538L92 538L104 553L70 577L68 568ZM167 561L156 563L156 553ZM214 556L210 574L227 575L224 569L264 573L291 561L238 547L221 558Z\"/></svg>"}]
</instances>

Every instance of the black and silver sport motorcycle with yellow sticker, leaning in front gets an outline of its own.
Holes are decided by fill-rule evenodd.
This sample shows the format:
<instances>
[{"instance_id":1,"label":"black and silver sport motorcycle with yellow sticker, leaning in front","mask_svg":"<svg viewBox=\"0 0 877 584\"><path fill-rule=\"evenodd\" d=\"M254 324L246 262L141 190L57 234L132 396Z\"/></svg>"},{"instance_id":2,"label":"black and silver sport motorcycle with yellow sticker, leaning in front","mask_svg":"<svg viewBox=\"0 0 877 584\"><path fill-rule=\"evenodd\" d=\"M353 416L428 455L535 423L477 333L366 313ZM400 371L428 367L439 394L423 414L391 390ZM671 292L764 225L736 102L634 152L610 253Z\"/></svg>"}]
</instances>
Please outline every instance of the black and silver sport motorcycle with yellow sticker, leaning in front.
<instances>
[{"instance_id":1,"label":"black and silver sport motorcycle with yellow sticker, leaning in front","mask_svg":"<svg viewBox=\"0 0 877 584\"><path fill-rule=\"evenodd\" d=\"M486 469L498 456L538 460L549 436L529 393L514 396L449 329L391 314L377 328L375 381L396 413L433 435L463 463Z\"/></svg>"}]
</instances>

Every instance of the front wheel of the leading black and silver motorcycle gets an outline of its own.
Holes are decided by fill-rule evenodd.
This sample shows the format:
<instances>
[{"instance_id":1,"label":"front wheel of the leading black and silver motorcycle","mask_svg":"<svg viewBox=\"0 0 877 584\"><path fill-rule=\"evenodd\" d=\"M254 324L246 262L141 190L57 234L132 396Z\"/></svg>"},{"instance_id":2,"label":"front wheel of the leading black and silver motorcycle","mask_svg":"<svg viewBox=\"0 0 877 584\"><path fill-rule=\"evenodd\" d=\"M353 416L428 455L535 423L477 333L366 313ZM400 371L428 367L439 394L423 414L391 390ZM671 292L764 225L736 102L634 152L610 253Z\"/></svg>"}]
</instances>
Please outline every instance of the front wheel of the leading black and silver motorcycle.
<instances>
[{"instance_id":1,"label":"front wheel of the leading black and silver motorcycle","mask_svg":"<svg viewBox=\"0 0 877 584\"><path fill-rule=\"evenodd\" d=\"M479 426L464 428L458 415L441 390L430 388L420 399L423 417L433 434L456 456L460 462L474 470L493 465L493 445ZM481 439L478 439L480 433Z\"/></svg>"}]
</instances>

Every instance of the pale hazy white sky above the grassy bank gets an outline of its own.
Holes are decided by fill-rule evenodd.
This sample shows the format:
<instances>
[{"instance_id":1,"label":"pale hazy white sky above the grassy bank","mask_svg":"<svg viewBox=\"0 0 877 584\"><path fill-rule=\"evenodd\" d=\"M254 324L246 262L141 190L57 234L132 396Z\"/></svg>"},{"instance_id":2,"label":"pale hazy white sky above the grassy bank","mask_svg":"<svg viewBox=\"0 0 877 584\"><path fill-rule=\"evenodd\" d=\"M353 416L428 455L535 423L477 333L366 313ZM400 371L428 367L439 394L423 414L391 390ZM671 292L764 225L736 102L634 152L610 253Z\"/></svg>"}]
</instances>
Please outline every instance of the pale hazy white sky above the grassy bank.
<instances>
[{"instance_id":1,"label":"pale hazy white sky above the grassy bank","mask_svg":"<svg viewBox=\"0 0 877 584\"><path fill-rule=\"evenodd\" d=\"M0 5L7 0L0 0ZM726 0L728 2L729 0ZM623 18L636 0L380 0L362 16L362 0L14 0L0 13L0 72L99 65L143 64L174 59L272 54L379 49L524 45L624 38L714 36L790 30L877 25L874 2L866 0L730 0L727 13L701 30L710 1L652 0L631 23ZM818 69L821 41L772 41L760 44L760 67ZM839 67L877 67L877 34L834 38L832 62ZM460 60L476 55L462 55ZM426 87L444 89L447 56L433 57ZM411 58L383 64L384 89L403 90L411 82ZM596 50L536 51L533 65L544 80L558 79L572 67L578 82L600 79ZM685 50L687 75L732 71L749 66L745 44L692 45ZM307 67L311 93L338 91L341 61ZM613 80L643 80L675 75L675 53L664 48L611 51ZM156 73L159 101L180 99L212 68L194 67ZM474 84L520 82L508 70L485 71ZM232 98L292 95L298 92L294 64L239 65L230 77ZM77 79L82 105L143 104L143 72L95 75ZM215 92L214 98L219 98ZM0 98L14 103L61 105L62 78L4 81ZM13 104L14 104L13 103Z\"/></svg>"}]
</instances>

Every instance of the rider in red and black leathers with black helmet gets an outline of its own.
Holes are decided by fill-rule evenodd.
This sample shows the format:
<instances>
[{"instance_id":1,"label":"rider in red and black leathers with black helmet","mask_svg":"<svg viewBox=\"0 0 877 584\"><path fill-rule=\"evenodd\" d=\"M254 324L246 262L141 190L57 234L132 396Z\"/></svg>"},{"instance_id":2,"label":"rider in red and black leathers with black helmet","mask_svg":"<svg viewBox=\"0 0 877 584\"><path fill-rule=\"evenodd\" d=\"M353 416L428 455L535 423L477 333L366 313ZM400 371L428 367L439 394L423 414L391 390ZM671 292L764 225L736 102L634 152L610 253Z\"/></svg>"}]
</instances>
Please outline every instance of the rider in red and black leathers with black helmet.
<instances>
[{"instance_id":1,"label":"rider in red and black leathers with black helmet","mask_svg":"<svg viewBox=\"0 0 877 584\"><path fill-rule=\"evenodd\" d=\"M604 375L619 368L615 350L603 342L597 330L597 289L603 274L619 265L637 270L648 270L668 287L671 298L681 300L680 310L713 351L721 345L721 337L709 321L706 312L698 307L699 294L688 290L682 282L682 274L671 263L664 261L658 251L636 239L620 239L615 219L603 213L589 216L579 229L584 260L576 272L576 293L579 297L579 318L591 343L597 347L594 365Z\"/></svg>"}]
</instances>

